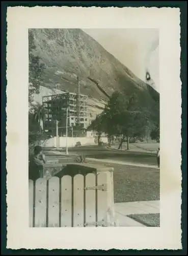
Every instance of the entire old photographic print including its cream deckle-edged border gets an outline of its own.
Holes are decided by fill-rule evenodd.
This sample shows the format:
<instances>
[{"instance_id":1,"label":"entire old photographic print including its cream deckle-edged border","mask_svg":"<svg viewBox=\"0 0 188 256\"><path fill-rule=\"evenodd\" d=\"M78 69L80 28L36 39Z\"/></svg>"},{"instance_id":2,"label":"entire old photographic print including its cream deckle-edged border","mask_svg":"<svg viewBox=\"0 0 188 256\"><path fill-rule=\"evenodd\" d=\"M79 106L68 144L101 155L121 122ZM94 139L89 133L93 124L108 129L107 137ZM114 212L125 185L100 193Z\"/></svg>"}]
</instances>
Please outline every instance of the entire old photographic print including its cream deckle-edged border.
<instances>
[{"instance_id":1,"label":"entire old photographic print including its cream deckle-edged border","mask_svg":"<svg viewBox=\"0 0 188 256\"><path fill-rule=\"evenodd\" d=\"M7 12L7 248L181 248L178 8Z\"/></svg>"}]
</instances>

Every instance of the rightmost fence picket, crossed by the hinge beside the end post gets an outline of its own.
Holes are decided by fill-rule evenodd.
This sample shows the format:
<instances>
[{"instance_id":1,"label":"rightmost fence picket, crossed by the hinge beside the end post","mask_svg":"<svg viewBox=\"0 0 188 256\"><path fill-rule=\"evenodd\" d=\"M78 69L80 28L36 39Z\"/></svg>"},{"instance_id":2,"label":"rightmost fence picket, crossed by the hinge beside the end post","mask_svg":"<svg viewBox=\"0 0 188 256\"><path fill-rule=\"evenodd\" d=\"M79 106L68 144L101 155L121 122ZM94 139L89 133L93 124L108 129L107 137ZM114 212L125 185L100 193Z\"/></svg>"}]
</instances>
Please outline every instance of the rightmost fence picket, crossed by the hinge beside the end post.
<instances>
[{"instance_id":1,"label":"rightmost fence picket, crossed by the hinge beside the end post","mask_svg":"<svg viewBox=\"0 0 188 256\"><path fill-rule=\"evenodd\" d=\"M97 185L107 184L107 173L101 172L97 175ZM109 189L109 188L108 188ZM108 212L108 191L97 190L97 222L108 225L106 219Z\"/></svg>"}]
</instances>

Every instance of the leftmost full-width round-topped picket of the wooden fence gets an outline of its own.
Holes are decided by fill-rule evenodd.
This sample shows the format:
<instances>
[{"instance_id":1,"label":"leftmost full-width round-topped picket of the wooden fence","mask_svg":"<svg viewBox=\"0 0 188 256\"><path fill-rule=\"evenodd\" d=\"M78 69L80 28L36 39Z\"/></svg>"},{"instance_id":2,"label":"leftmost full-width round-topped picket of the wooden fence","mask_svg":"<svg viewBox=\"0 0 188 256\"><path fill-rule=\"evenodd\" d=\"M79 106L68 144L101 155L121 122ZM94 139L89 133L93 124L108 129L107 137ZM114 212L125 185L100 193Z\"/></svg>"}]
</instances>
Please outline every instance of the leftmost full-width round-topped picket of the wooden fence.
<instances>
[{"instance_id":1,"label":"leftmost full-width round-topped picket of the wooden fence","mask_svg":"<svg viewBox=\"0 0 188 256\"><path fill-rule=\"evenodd\" d=\"M35 186L35 227L46 227L47 181L39 178Z\"/></svg>"}]
</instances>

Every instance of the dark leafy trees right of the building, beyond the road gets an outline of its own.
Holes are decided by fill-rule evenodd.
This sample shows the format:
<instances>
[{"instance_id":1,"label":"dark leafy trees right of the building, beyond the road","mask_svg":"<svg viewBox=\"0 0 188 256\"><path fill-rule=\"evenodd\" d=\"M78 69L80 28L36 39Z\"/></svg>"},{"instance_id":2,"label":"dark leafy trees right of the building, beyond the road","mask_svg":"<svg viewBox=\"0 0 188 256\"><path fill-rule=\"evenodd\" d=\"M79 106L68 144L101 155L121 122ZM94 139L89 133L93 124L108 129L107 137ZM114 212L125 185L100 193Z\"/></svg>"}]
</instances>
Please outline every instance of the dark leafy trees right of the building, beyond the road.
<instances>
[{"instance_id":1,"label":"dark leafy trees right of the building, beyond the road","mask_svg":"<svg viewBox=\"0 0 188 256\"><path fill-rule=\"evenodd\" d=\"M125 97L124 93L114 92L104 111L92 121L89 130L97 132L98 143L101 134L107 134L109 146L113 136L120 136L119 148L121 148L123 141L126 140L128 150L129 139L143 138L148 129L151 130L153 139L156 139L159 135L159 129L157 130L158 123L159 117L157 117L157 113L153 118L151 111L140 104L136 93L131 93Z\"/></svg>"}]
</instances>

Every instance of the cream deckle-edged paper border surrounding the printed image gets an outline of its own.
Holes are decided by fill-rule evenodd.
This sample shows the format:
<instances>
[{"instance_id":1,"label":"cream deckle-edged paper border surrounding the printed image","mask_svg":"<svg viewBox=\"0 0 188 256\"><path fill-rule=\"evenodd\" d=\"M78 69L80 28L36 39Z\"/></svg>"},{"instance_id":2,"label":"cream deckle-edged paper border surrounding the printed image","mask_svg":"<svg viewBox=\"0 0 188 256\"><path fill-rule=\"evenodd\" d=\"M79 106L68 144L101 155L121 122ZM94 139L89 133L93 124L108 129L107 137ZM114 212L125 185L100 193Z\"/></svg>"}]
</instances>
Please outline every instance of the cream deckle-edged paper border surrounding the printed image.
<instances>
[{"instance_id":1,"label":"cream deckle-edged paper border surrounding the printed image","mask_svg":"<svg viewBox=\"0 0 188 256\"><path fill-rule=\"evenodd\" d=\"M149 12L149 15L148 15ZM45 14L46 13L46 14ZM49 13L50 19L49 19ZM62 17L63 13L63 17ZM135 13L132 18L132 14ZM143 14L144 13L144 14ZM84 15L85 14L85 15ZM31 17L32 15L32 17ZM106 16L105 16L106 15ZM143 19L143 15L145 19ZM8 8L7 45L7 248L180 249L181 248L181 81L178 8ZM40 16L40 17L39 17ZM45 17L45 20L44 20ZM74 20L73 20L74 17ZM112 20L113 17L113 20ZM42 20L43 18L43 20ZM126 23L129 18L129 23ZM142 19L141 19L142 18ZM160 27L162 25L163 28ZM56 229L28 228L28 44L30 27L159 27L161 115L161 227ZM87 23L86 23L87 20ZM62 25L61 25L62 23ZM116 23L116 26L115 26ZM169 25L169 27L167 26ZM155 26L156 26L155 25ZM174 26L172 26L174 25ZM167 29L168 28L168 29ZM173 28L173 31L172 31ZM166 29L166 30L165 30ZM167 31L168 30L168 31ZM25 37L23 36L23 33ZM165 33L168 33L168 38ZM16 35L16 36L15 36ZM20 36L20 37L19 37ZM165 37L165 40L163 40ZM19 39L18 39L19 38ZM24 38L24 40L23 40ZM168 41L169 38L174 40ZM168 42L170 44L168 44ZM22 44L22 46L20 46ZM166 47L165 47L166 44ZM167 45L168 44L168 45ZM164 51L164 48L166 50ZM169 48L173 48L172 51ZM21 50L21 51L20 51ZM169 51L168 51L169 50ZM19 58L18 58L19 57ZM172 61L173 60L173 61ZM163 61L163 62L162 62ZM177 62L176 62L177 61ZM168 69L166 67L168 63ZM21 70L21 71L20 71ZM170 73L170 77L168 76ZM24 75L25 74L25 75ZM165 75L167 74L167 76ZM168 81L166 78L168 77ZM173 86L174 84L174 86ZM15 90L16 87L16 90ZM14 89L12 89L14 88ZM172 97L172 98L170 98ZM173 99L173 100L172 100ZM168 104L168 106L167 106ZM174 114L173 122L169 110ZM19 122L18 122L19 120ZM173 124L173 126L172 126ZM24 128L23 128L24 127ZM174 141L169 140L173 134ZM22 160L22 166L20 165ZM21 168L20 168L21 166ZM24 193L23 193L24 192ZM25 197L23 197L23 195ZM16 200L17 199L17 200ZM173 202L173 204L172 204ZM171 203L171 204L170 204ZM168 217L163 219L164 217ZM169 219L171 218L171 221ZM174 227L175 226L175 227ZM170 231L169 231L170 230ZM127 232L126 232L127 231ZM56 240L55 240L56 238ZM61 239L62 238L62 239ZM81 238L81 239L80 239ZM104 239L105 238L105 239ZM122 239L123 238L123 239ZM155 238L155 239L153 239ZM126 246L125 246L126 244Z\"/></svg>"}]
</instances>

